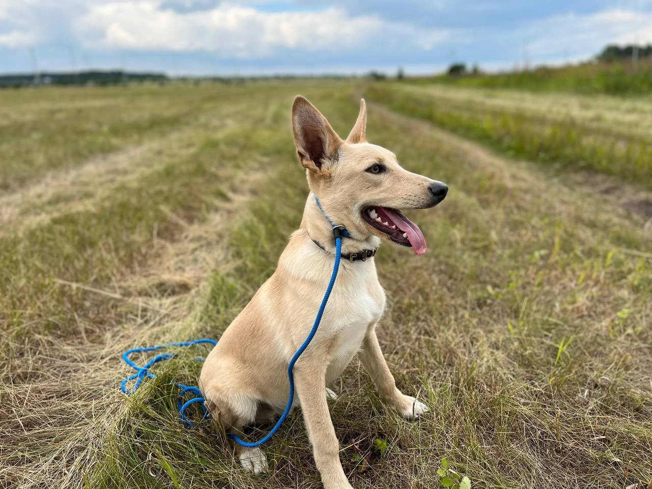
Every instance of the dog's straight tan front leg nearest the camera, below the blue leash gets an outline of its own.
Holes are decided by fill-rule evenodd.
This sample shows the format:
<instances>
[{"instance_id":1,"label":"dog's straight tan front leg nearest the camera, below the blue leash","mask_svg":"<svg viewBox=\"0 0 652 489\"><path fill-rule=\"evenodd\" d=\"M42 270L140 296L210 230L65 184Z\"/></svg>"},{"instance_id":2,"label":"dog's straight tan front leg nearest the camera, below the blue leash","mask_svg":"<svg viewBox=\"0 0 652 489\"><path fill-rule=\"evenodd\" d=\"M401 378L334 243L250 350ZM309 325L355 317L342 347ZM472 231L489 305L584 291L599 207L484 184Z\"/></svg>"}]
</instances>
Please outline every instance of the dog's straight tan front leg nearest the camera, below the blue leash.
<instances>
[{"instance_id":1,"label":"dog's straight tan front leg nearest the camera, below the blue leash","mask_svg":"<svg viewBox=\"0 0 652 489\"><path fill-rule=\"evenodd\" d=\"M301 411L324 489L353 489L340 463L340 443L328 409L326 366L308 360L295 366L294 375Z\"/></svg>"}]
</instances>

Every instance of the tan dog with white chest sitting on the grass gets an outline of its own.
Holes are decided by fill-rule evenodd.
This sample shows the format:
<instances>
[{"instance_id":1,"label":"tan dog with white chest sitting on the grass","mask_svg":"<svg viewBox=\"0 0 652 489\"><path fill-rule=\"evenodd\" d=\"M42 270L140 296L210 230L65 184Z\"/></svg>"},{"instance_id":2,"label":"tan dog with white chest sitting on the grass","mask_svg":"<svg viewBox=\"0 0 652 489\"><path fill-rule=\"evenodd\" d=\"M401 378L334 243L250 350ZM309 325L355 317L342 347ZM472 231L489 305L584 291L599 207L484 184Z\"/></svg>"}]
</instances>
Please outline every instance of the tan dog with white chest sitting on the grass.
<instances>
[{"instance_id":1,"label":"tan dog with white chest sitting on the grass","mask_svg":"<svg viewBox=\"0 0 652 489\"><path fill-rule=\"evenodd\" d=\"M297 96L292 127L311 193L299 230L292 233L278 268L226 329L201 370L200 387L213 419L226 432L281 413L288 402L287 368L305 340L333 269L335 240L328 216L343 224L342 262L319 329L297 361L294 378L325 489L351 488L339 458L329 414L327 385L359 355L380 396L406 419L428 411L396 389L376 338L385 308L373 254L381 240L426 251L421 230L396 209L433 207L447 186L401 168L396 156L365 140L366 109L342 141L319 111ZM319 198L324 213L319 210ZM348 259L347 259L348 258ZM361 259L364 258L364 259ZM236 445L244 469L267 468L259 448Z\"/></svg>"}]
</instances>

